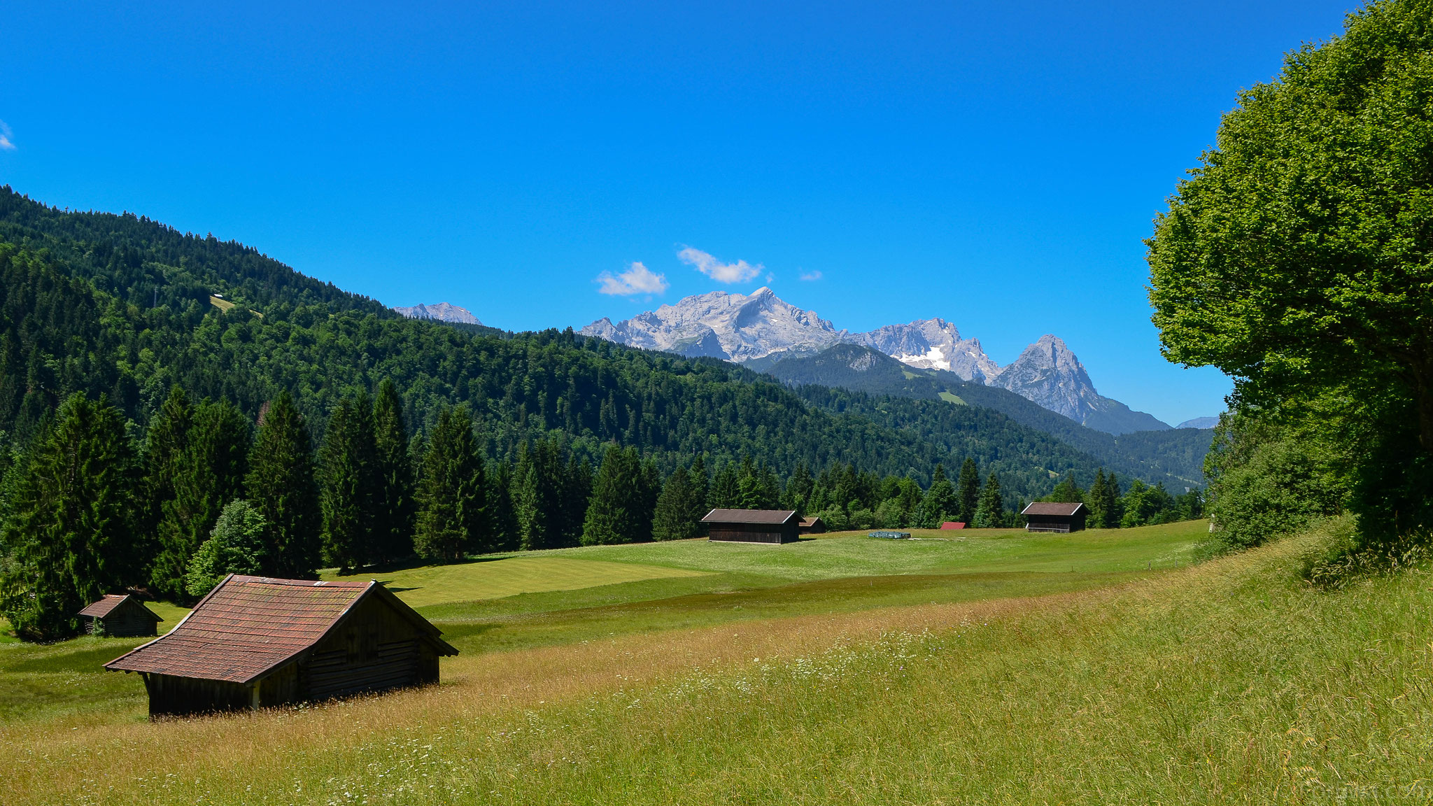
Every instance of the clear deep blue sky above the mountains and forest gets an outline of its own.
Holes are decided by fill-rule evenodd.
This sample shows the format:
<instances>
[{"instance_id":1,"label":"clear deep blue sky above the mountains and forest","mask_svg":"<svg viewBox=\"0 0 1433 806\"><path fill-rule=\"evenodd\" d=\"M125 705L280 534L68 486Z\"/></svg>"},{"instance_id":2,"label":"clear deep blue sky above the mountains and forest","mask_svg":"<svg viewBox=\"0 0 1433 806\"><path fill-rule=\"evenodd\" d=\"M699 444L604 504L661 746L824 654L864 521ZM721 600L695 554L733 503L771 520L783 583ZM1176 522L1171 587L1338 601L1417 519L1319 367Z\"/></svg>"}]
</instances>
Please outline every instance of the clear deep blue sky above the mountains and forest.
<instances>
[{"instance_id":1,"label":"clear deep blue sky above the mountains and forest","mask_svg":"<svg viewBox=\"0 0 1433 806\"><path fill-rule=\"evenodd\" d=\"M1353 7L295 6L7 3L0 182L513 330L768 284L1000 363L1055 333L1171 423L1230 383L1159 356L1141 241L1235 92ZM665 291L600 293L633 262Z\"/></svg>"}]
</instances>

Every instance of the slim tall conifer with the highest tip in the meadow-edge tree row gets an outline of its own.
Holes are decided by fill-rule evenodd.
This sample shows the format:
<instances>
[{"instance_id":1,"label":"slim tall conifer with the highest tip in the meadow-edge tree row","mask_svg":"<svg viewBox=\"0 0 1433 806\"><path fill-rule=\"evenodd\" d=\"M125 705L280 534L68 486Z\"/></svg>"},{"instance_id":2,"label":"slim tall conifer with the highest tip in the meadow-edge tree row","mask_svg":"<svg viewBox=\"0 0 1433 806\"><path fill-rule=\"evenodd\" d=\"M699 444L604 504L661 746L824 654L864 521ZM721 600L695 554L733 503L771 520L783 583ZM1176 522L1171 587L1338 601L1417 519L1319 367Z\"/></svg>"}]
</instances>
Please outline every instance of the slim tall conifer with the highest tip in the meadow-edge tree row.
<instances>
[{"instance_id":1,"label":"slim tall conifer with the highest tip in the meadow-edge tree row","mask_svg":"<svg viewBox=\"0 0 1433 806\"><path fill-rule=\"evenodd\" d=\"M384 379L373 403L374 450L378 463L378 502L373 561L393 562L413 554L416 482L408 427L398 387Z\"/></svg>"}]
</instances>

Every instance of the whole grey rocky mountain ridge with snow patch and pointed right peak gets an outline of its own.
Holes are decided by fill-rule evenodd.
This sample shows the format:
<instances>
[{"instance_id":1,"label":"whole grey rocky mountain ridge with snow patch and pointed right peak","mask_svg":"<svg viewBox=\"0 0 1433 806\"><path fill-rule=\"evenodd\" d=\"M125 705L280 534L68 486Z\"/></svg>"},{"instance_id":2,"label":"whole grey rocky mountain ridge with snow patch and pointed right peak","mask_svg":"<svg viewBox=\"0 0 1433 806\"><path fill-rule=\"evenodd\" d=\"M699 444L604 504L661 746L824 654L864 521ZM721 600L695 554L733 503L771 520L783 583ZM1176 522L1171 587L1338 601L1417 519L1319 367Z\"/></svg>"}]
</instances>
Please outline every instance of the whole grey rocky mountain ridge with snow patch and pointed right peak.
<instances>
[{"instance_id":1,"label":"whole grey rocky mountain ridge with snow patch and pointed right peak","mask_svg":"<svg viewBox=\"0 0 1433 806\"><path fill-rule=\"evenodd\" d=\"M712 291L685 297L655 311L613 323L600 318L582 328L629 347L663 350L688 357L709 356L771 371L781 361L810 357L835 344L870 347L906 366L949 371L960 380L1015 392L1050 412L1108 433L1165 430L1168 423L1123 403L1103 397L1075 353L1056 336L1042 336L1006 367L962 337L943 318L890 324L868 333L850 333L801 310L771 291L749 295Z\"/></svg>"}]
</instances>

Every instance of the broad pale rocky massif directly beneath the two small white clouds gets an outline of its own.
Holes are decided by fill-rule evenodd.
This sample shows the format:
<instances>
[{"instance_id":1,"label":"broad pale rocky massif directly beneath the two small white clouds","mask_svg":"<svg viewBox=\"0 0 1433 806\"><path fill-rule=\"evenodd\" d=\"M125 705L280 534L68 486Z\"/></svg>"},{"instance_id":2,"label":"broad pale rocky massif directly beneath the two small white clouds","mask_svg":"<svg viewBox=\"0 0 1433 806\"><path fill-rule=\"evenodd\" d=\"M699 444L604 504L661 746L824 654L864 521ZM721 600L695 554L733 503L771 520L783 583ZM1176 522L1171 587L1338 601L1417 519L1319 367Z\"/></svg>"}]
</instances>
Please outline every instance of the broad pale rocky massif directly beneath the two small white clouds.
<instances>
[{"instance_id":1,"label":"broad pale rocky massif directly beneath the two small white clouds","mask_svg":"<svg viewBox=\"0 0 1433 806\"><path fill-rule=\"evenodd\" d=\"M749 295L698 294L616 324L600 318L583 327L582 334L629 347L738 363L772 353L815 353L847 336L815 311L782 301L771 288L758 288Z\"/></svg>"}]
</instances>

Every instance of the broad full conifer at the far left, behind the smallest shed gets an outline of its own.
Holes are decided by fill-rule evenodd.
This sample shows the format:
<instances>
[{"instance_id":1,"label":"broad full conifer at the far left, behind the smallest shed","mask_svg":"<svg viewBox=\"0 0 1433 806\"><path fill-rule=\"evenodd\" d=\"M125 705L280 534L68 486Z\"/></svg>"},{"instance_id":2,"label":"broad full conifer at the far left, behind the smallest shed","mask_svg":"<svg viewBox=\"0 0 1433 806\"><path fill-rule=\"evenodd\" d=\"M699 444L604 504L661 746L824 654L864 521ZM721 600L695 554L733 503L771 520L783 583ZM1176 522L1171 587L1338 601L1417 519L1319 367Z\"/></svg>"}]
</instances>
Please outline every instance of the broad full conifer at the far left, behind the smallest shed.
<instances>
[{"instance_id":1,"label":"broad full conifer at the far left, behind the smallest shed","mask_svg":"<svg viewBox=\"0 0 1433 806\"><path fill-rule=\"evenodd\" d=\"M67 638L102 594L140 582L135 551L142 475L125 420L73 394L36 436L10 490L0 545L0 612L26 640Z\"/></svg>"}]
</instances>

